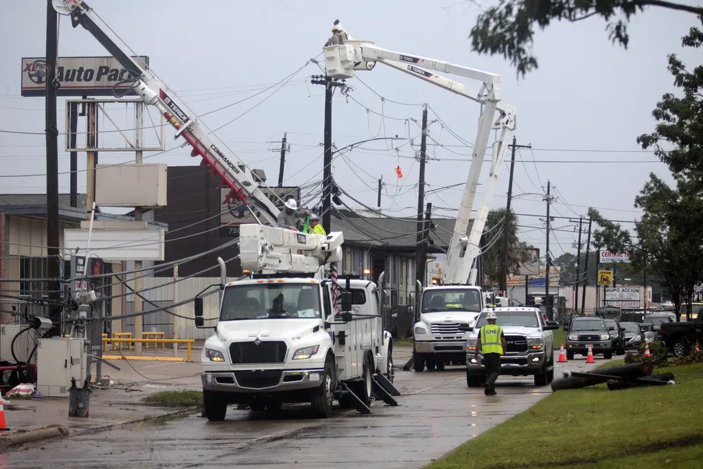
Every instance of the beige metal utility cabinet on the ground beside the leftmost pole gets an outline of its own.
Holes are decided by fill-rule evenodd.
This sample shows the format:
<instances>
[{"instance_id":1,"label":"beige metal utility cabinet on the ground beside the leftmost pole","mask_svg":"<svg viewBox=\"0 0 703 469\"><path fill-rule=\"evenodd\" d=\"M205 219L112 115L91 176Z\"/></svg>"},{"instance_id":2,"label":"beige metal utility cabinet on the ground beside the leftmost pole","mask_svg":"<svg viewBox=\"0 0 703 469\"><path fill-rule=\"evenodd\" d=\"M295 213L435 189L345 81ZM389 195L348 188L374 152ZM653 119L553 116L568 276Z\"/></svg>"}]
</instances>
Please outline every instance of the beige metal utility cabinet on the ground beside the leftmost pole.
<instances>
[{"instance_id":1,"label":"beige metal utility cabinet on the ground beside the leftmost pole","mask_svg":"<svg viewBox=\"0 0 703 469\"><path fill-rule=\"evenodd\" d=\"M39 339L37 391L46 397L68 397L71 378L75 378L78 387L83 386L86 358L85 339Z\"/></svg>"}]
</instances>

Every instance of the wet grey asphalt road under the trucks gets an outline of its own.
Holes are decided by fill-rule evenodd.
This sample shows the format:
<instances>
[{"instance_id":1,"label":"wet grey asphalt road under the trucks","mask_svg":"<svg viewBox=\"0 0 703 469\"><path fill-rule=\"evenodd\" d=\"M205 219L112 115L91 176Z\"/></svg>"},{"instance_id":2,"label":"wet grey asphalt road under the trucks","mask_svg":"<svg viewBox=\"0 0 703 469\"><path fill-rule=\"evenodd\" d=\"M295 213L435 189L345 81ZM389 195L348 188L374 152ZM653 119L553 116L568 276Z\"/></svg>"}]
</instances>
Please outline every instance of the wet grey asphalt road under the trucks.
<instances>
[{"instance_id":1,"label":"wet grey asphalt road under the trucks","mask_svg":"<svg viewBox=\"0 0 703 469\"><path fill-rule=\"evenodd\" d=\"M581 356L555 365L556 375L593 366ZM307 418L304 405L278 416L231 406L219 423L195 414L25 445L5 455L6 467L421 468L551 392L531 377L501 377L498 395L486 397L466 386L463 370L398 371L399 406L374 401L370 415L340 409L319 420Z\"/></svg>"}]
</instances>

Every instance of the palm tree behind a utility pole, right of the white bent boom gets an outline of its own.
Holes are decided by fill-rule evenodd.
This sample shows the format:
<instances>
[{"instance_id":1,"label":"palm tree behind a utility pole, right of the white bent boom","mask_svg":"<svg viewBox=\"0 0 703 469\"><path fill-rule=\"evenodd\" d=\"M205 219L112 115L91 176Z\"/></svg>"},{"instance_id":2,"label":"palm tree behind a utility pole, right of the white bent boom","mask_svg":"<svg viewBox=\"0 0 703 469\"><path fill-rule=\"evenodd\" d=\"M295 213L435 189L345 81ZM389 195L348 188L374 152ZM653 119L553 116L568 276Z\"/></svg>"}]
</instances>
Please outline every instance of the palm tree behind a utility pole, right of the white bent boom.
<instances>
[{"instance_id":1,"label":"palm tree behind a utility pole, right of the white bent boom","mask_svg":"<svg viewBox=\"0 0 703 469\"><path fill-rule=\"evenodd\" d=\"M503 264L503 243L504 229L503 223L508 223L508 274L518 274L520 266L527 262L530 256L529 249L533 248L517 237L517 215L510 210L510 216L505 220L505 208L492 210L486 219L484 237L486 243L494 241L494 245L489 246L482 254L484 276L489 281L498 283L501 289L505 290L505 284L501 282L501 266Z\"/></svg>"}]
</instances>

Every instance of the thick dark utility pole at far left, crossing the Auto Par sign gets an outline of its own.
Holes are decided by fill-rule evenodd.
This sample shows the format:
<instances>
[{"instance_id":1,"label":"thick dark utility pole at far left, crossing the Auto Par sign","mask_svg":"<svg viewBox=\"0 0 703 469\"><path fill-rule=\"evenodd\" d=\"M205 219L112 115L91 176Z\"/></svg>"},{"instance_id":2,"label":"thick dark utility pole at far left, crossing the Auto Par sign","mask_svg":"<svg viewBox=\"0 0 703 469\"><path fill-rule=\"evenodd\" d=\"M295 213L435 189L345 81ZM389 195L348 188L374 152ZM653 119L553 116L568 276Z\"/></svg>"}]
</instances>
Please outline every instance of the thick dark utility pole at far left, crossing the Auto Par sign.
<instances>
[{"instance_id":1,"label":"thick dark utility pole at far left, crossing the Auto Par sign","mask_svg":"<svg viewBox=\"0 0 703 469\"><path fill-rule=\"evenodd\" d=\"M61 335L61 275L58 253L58 127L56 126L56 58L58 57L58 15L51 0L46 0L46 257L48 257L46 283L49 300L53 302L49 309L49 319L53 326L47 336ZM56 82L55 82L56 81Z\"/></svg>"}]
</instances>

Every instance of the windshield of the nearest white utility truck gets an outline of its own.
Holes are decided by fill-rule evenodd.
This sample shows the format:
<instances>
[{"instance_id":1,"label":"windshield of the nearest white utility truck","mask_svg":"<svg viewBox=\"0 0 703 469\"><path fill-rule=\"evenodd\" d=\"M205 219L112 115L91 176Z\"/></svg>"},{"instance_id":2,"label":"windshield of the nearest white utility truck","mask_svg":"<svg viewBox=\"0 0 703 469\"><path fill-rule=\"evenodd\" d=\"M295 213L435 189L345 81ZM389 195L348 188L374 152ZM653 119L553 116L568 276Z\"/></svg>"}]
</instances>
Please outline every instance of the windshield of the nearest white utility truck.
<instances>
[{"instance_id":1,"label":"windshield of the nearest white utility truck","mask_svg":"<svg viewBox=\"0 0 703 469\"><path fill-rule=\"evenodd\" d=\"M224 290L220 321L321 317L318 285L262 283Z\"/></svg>"}]
</instances>

